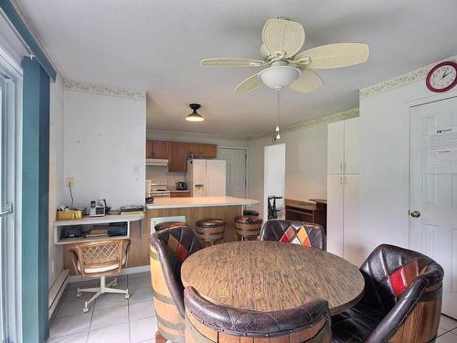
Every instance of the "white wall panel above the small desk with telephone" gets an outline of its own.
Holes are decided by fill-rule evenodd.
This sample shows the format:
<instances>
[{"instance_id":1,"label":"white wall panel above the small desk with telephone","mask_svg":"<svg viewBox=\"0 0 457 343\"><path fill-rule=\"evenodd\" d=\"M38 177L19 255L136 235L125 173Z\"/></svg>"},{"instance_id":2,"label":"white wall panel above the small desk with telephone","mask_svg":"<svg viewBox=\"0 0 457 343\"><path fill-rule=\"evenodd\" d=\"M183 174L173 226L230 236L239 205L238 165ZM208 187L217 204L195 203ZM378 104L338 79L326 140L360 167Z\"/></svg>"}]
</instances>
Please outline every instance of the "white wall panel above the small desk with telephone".
<instances>
[{"instance_id":1,"label":"white wall panel above the small desk with telephone","mask_svg":"<svg viewBox=\"0 0 457 343\"><path fill-rule=\"evenodd\" d=\"M146 102L65 90L65 177L74 205L144 203Z\"/></svg>"}]
</instances>

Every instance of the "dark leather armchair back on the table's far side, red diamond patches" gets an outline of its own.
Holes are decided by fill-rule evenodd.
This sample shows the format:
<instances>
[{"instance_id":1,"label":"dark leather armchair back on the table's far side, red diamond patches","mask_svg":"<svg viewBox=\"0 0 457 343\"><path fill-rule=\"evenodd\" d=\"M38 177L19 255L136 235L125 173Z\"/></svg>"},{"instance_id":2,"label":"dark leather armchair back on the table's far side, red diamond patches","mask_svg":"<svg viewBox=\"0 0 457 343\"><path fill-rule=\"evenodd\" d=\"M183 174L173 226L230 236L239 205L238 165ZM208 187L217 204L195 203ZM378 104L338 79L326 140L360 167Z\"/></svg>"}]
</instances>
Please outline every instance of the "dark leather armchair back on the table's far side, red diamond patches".
<instances>
[{"instance_id":1,"label":"dark leather armchair back on the table's far side, red diamond patches","mask_svg":"<svg viewBox=\"0 0 457 343\"><path fill-rule=\"evenodd\" d=\"M296 220L268 220L260 232L260 241L282 241L325 250L321 225Z\"/></svg>"}]
</instances>

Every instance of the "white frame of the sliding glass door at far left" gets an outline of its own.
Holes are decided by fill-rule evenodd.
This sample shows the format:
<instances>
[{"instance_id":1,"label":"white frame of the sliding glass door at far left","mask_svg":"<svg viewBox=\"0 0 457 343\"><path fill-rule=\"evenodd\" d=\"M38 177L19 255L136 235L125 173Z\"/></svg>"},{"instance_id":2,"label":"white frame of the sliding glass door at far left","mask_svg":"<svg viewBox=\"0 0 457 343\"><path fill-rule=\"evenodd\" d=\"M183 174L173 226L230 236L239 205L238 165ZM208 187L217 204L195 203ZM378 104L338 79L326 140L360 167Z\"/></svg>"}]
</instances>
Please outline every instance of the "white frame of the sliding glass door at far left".
<instances>
[{"instance_id":1,"label":"white frame of the sliding glass door at far left","mask_svg":"<svg viewBox=\"0 0 457 343\"><path fill-rule=\"evenodd\" d=\"M4 217L8 224L5 231L5 266L4 304L6 306L5 335L8 341L22 341L22 264L21 264L21 195L22 195L22 68L9 54L0 47L0 72L7 76L11 85L8 108L13 112L8 125L10 168L7 171L7 191L12 194L8 201L13 203L13 214ZM11 98L13 96L13 98ZM5 153L5 152L3 152ZM3 209L2 209L3 210ZM48 277L48 275L46 275Z\"/></svg>"}]
</instances>

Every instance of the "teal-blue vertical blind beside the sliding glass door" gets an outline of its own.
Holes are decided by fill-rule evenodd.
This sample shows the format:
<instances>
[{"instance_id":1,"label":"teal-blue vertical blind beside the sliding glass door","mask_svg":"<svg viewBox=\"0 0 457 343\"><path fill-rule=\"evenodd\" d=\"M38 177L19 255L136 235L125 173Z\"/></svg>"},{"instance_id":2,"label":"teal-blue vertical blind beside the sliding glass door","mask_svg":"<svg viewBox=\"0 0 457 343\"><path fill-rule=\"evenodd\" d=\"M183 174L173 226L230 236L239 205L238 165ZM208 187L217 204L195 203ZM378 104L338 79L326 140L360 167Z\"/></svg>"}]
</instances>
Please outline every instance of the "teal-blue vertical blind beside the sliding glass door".
<instances>
[{"instance_id":1,"label":"teal-blue vertical blind beside the sliding glass door","mask_svg":"<svg viewBox=\"0 0 457 343\"><path fill-rule=\"evenodd\" d=\"M24 58L22 156L23 341L48 337L49 75Z\"/></svg>"}]
</instances>

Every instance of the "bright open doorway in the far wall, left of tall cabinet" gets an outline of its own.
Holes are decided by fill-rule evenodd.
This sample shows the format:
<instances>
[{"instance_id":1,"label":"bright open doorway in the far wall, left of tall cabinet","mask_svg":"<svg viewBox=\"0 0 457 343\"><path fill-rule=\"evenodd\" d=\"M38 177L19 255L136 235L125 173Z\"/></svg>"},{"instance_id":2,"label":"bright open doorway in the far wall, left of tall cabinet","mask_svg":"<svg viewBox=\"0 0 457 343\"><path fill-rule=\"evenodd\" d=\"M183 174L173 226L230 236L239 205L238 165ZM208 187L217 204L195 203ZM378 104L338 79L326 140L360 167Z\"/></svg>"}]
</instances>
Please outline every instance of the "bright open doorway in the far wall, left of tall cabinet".
<instances>
[{"instance_id":1,"label":"bright open doorway in the far wall, left of tall cabinet","mask_svg":"<svg viewBox=\"0 0 457 343\"><path fill-rule=\"evenodd\" d=\"M275 197L275 198L271 198ZM285 144L265 146L263 166L263 218L284 218L285 197ZM269 213L276 205L276 213ZM271 211L270 211L271 212Z\"/></svg>"}]
</instances>

